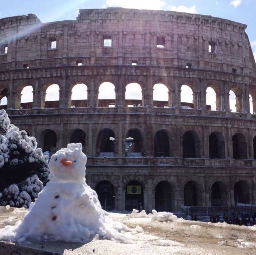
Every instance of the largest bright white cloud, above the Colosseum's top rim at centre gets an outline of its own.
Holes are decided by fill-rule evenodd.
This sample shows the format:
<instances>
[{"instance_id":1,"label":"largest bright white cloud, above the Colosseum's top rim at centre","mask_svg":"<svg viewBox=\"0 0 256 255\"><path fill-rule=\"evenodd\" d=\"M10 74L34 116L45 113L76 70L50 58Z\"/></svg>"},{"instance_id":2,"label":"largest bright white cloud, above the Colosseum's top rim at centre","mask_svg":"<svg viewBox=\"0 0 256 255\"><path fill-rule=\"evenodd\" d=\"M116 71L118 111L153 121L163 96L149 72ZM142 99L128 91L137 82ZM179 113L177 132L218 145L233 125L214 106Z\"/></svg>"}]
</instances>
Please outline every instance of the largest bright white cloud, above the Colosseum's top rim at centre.
<instances>
[{"instance_id":1,"label":"largest bright white cloud, above the Colosseum's top rim at centre","mask_svg":"<svg viewBox=\"0 0 256 255\"><path fill-rule=\"evenodd\" d=\"M165 5L166 3L161 0L107 0L103 7L161 10Z\"/></svg>"}]
</instances>

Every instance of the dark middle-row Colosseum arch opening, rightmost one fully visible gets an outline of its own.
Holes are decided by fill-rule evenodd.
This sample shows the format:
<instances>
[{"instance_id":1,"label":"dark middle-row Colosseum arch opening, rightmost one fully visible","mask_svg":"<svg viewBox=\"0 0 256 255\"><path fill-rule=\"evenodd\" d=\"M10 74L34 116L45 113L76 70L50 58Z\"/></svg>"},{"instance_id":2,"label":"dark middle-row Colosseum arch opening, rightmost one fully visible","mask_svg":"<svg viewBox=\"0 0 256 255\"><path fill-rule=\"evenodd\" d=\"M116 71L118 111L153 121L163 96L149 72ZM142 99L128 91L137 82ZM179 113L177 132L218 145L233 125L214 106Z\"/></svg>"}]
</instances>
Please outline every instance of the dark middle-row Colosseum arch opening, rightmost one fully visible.
<instances>
[{"instance_id":1,"label":"dark middle-row Colosseum arch opening, rightmost one fully visible","mask_svg":"<svg viewBox=\"0 0 256 255\"><path fill-rule=\"evenodd\" d=\"M233 143L233 159L247 159L247 143L245 136L236 133L232 136Z\"/></svg>"}]
</instances>

